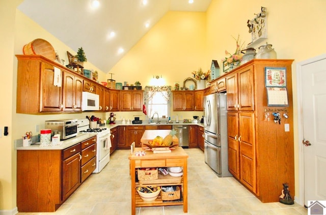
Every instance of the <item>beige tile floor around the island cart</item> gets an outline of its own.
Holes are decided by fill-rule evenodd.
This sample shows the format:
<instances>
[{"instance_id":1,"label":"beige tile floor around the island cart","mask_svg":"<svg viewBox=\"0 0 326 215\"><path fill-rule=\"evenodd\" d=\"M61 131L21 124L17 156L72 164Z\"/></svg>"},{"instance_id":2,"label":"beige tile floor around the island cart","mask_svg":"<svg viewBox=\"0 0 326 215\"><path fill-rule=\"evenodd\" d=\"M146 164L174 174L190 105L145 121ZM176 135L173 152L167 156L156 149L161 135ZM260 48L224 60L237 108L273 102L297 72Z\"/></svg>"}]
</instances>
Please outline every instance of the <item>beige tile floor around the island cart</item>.
<instances>
[{"instance_id":1,"label":"beige tile floor around the island cart","mask_svg":"<svg viewBox=\"0 0 326 215\"><path fill-rule=\"evenodd\" d=\"M188 213L183 206L136 208L140 215L256 215L307 214L301 205L261 203L232 177L219 178L204 163L198 148L185 149L188 158ZM100 172L92 174L56 212L18 215L100 215L131 214L129 150L116 150Z\"/></svg>"}]
</instances>

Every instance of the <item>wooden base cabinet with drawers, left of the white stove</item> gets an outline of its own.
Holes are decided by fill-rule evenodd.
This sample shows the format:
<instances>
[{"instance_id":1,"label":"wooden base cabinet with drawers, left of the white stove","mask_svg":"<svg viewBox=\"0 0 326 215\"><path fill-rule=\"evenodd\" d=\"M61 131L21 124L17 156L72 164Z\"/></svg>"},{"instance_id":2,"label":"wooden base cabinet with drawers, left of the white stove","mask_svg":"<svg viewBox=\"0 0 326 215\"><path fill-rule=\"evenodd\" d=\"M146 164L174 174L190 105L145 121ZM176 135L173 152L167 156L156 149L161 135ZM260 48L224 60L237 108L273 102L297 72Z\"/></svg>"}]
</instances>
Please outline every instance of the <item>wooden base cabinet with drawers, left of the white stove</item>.
<instances>
[{"instance_id":1,"label":"wooden base cabinet with drawers, left of the white stove","mask_svg":"<svg viewBox=\"0 0 326 215\"><path fill-rule=\"evenodd\" d=\"M17 150L18 211L56 211L93 172L95 161L96 136L65 149Z\"/></svg>"}]
</instances>

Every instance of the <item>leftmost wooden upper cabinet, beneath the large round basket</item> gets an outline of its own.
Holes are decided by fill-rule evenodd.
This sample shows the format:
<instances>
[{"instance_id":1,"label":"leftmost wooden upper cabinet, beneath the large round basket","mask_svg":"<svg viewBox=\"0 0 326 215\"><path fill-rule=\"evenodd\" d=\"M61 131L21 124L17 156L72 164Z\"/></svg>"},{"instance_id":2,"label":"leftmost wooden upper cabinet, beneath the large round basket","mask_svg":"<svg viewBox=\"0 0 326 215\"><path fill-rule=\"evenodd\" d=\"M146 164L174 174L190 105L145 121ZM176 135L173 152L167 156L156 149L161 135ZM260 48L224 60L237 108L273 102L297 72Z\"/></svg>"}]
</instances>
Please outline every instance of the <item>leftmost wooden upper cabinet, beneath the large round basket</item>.
<instances>
[{"instance_id":1,"label":"leftmost wooden upper cabinet, beneath the large round basket","mask_svg":"<svg viewBox=\"0 0 326 215\"><path fill-rule=\"evenodd\" d=\"M60 112L63 108L62 88L53 85L55 67L62 66L40 55L16 55L17 113ZM60 83L62 84L62 83Z\"/></svg>"}]
</instances>

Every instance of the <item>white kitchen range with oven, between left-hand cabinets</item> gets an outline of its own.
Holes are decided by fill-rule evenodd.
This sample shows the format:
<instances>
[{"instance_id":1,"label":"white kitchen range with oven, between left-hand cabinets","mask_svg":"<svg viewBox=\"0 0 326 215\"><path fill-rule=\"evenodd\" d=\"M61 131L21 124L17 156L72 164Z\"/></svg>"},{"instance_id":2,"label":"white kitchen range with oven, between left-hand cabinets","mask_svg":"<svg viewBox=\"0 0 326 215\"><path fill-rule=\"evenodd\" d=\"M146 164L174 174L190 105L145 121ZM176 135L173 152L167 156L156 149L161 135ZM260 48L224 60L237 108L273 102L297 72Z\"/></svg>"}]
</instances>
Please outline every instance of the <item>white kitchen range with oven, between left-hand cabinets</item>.
<instances>
[{"instance_id":1,"label":"white kitchen range with oven, between left-hand cabinets","mask_svg":"<svg viewBox=\"0 0 326 215\"><path fill-rule=\"evenodd\" d=\"M105 165L110 162L111 148L111 131L109 128L99 127L90 129L90 121L88 119L78 119L78 133L96 133L96 169L94 173L99 173Z\"/></svg>"}]
</instances>

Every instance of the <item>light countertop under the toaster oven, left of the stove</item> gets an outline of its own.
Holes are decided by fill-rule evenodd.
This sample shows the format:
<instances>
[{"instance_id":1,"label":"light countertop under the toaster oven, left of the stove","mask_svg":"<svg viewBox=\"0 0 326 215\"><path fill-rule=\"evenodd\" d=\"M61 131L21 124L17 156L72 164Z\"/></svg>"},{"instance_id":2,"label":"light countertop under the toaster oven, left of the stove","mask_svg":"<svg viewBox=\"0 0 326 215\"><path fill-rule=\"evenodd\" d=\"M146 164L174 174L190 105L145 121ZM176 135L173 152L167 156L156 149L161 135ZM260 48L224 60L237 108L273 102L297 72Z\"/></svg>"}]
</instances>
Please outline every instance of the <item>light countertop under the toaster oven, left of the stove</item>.
<instances>
[{"instance_id":1,"label":"light countertop under the toaster oven, left of the stove","mask_svg":"<svg viewBox=\"0 0 326 215\"><path fill-rule=\"evenodd\" d=\"M60 145L49 145L49 146L41 146L40 144L35 143L37 137L32 138L32 142L30 146L22 146L22 139L15 140L15 149L16 150L62 150L68 148L74 144L87 140L91 137L96 136L96 133L78 133L76 137L69 138L67 140L60 141Z\"/></svg>"}]
</instances>

